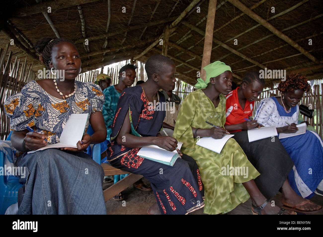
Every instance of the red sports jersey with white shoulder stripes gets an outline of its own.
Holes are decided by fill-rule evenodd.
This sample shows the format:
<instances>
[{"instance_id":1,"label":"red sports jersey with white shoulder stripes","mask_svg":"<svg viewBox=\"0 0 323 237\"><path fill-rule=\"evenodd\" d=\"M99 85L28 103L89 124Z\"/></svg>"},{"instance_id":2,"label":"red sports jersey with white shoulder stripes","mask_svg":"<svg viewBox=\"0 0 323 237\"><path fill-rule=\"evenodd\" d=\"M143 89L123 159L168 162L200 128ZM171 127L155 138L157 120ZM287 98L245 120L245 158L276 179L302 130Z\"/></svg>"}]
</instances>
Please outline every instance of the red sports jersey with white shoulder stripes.
<instances>
[{"instance_id":1,"label":"red sports jersey with white shoulder stripes","mask_svg":"<svg viewBox=\"0 0 323 237\"><path fill-rule=\"evenodd\" d=\"M226 125L238 124L245 122L245 119L248 119L252 115L252 110L255 105L255 101L245 102L245 108L243 109L239 103L238 98L238 88L229 92L226 96ZM232 132L239 132L241 130L235 130Z\"/></svg>"}]
</instances>

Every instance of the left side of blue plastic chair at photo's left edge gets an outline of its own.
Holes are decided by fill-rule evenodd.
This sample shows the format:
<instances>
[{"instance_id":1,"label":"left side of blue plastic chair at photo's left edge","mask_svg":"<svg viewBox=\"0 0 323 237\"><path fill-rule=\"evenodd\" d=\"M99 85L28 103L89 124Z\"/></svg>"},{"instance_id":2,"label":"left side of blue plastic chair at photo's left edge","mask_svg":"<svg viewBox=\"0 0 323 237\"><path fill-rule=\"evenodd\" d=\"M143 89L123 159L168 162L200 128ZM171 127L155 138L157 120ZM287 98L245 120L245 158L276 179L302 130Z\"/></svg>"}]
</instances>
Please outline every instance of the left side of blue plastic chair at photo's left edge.
<instances>
[{"instance_id":1,"label":"left side of blue plastic chair at photo's left edge","mask_svg":"<svg viewBox=\"0 0 323 237\"><path fill-rule=\"evenodd\" d=\"M11 133L9 134L7 141L10 140ZM0 152L0 167L5 166L5 154ZM18 180L6 180L5 175L0 176L0 214L5 214L7 208L16 203L18 200L18 190L23 186L22 183L19 183Z\"/></svg>"}]
</instances>

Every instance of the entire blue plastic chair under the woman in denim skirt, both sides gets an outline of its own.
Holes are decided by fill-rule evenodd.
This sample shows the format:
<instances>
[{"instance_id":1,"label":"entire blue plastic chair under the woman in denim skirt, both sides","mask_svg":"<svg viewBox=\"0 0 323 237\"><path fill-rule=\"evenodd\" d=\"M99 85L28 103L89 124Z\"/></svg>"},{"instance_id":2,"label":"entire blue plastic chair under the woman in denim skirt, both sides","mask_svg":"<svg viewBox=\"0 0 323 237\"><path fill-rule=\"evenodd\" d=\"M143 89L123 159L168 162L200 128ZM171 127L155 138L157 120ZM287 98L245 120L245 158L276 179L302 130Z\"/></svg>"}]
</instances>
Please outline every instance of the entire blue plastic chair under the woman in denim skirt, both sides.
<instances>
[{"instance_id":1,"label":"entire blue plastic chair under the woman in denim skirt, both sides","mask_svg":"<svg viewBox=\"0 0 323 237\"><path fill-rule=\"evenodd\" d=\"M7 137L7 141L10 140L11 133ZM94 133L93 129L89 125L87 133L89 135L92 135ZM90 146L88 148L87 152L92 159L97 162L98 164L101 164L101 146L100 144L94 144L93 148L91 149ZM3 152L0 152L0 167L5 166L5 154ZM18 190L20 187L23 186L22 183L19 183L18 180L6 180L5 175L0 176L0 214L5 214L5 211L7 208L16 203L18 201Z\"/></svg>"}]
</instances>

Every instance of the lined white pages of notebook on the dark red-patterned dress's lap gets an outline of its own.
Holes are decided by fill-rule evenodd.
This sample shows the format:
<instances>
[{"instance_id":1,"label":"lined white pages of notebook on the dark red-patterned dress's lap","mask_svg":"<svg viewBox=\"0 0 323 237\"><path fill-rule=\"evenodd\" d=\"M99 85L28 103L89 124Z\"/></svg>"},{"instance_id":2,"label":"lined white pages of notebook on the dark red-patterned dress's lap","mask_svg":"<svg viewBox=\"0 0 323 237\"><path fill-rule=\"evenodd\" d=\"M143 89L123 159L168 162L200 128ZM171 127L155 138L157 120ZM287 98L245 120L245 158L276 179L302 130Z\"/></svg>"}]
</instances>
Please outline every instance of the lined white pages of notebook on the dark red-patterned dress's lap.
<instances>
[{"instance_id":1,"label":"lined white pages of notebook on the dark red-patterned dress's lap","mask_svg":"<svg viewBox=\"0 0 323 237\"><path fill-rule=\"evenodd\" d=\"M154 160L166 162L171 162L174 155L175 154L172 151L168 151L160 147L156 148L154 145L142 147L137 153L137 156L149 157Z\"/></svg>"}]
</instances>

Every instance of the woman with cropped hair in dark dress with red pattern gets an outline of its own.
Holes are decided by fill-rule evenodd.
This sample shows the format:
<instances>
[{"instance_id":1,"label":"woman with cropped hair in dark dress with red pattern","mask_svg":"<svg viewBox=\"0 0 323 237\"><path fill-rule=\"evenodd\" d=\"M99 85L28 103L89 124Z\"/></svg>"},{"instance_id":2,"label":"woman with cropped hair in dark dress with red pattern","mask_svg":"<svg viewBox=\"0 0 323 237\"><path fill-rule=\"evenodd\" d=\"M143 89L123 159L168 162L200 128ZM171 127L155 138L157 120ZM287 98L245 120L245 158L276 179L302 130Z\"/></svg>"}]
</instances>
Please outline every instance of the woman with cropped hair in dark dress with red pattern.
<instances>
[{"instance_id":1,"label":"woman with cropped hair in dark dress with red pattern","mask_svg":"<svg viewBox=\"0 0 323 237\"><path fill-rule=\"evenodd\" d=\"M157 202L148 209L149 214L187 214L204 206L203 184L193 158L179 151L182 159L168 166L137 156L143 146L157 145L169 151L177 147L175 138L159 133L165 111L151 106L153 101L165 102L159 89L174 89L175 69L172 60L165 56L148 58L148 80L121 93L107 149L113 167L141 174L151 182Z\"/></svg>"}]
</instances>

